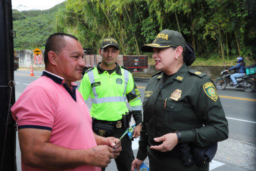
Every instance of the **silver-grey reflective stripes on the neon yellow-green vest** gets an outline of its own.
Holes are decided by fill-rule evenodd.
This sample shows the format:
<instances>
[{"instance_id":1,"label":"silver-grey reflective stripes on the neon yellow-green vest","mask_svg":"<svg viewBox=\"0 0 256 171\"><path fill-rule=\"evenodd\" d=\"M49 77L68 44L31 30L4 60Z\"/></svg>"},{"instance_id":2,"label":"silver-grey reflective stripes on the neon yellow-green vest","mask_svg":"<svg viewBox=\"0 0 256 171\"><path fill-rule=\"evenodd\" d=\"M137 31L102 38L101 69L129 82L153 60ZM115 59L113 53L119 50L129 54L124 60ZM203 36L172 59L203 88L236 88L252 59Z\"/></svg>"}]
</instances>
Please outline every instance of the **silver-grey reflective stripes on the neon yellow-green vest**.
<instances>
[{"instance_id":1,"label":"silver-grey reflective stripes on the neon yellow-green vest","mask_svg":"<svg viewBox=\"0 0 256 171\"><path fill-rule=\"evenodd\" d=\"M95 82L94 74L93 74L92 70L90 70L88 72L88 77L90 79L90 84ZM108 102L125 102L126 101L126 93L125 92L126 92L126 88L127 88L127 83L129 81L129 71L128 70L124 70L124 79L125 79L125 89L123 92L123 96L107 96L107 97L103 97L103 98L98 98L98 94L96 92L96 87L93 87L92 92L93 92L94 98L92 98L92 103L100 104L100 103L108 103Z\"/></svg>"}]
</instances>

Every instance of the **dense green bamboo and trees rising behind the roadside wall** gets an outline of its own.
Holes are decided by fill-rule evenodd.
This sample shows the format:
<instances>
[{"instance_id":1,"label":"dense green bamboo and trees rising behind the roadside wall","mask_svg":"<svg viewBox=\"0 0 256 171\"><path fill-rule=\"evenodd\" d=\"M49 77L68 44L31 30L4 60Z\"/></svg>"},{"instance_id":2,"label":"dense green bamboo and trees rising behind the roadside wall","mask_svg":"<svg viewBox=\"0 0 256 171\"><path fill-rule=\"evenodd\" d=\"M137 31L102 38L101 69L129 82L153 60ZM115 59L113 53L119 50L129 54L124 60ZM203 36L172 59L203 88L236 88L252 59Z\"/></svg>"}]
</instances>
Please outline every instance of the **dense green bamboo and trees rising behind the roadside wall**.
<instances>
[{"instance_id":1,"label":"dense green bamboo and trees rising behind the roadside wall","mask_svg":"<svg viewBox=\"0 0 256 171\"><path fill-rule=\"evenodd\" d=\"M94 53L103 38L111 36L118 40L121 54L140 55L142 44L151 43L162 29L173 29L192 44L198 57L256 59L255 0L67 0L64 4L55 21L49 14L42 17L47 22L49 16L47 25L55 23L54 29L51 25L41 31L47 36L54 31L74 34ZM36 29L30 31L40 36ZM16 48L26 46L16 44Z\"/></svg>"}]
</instances>

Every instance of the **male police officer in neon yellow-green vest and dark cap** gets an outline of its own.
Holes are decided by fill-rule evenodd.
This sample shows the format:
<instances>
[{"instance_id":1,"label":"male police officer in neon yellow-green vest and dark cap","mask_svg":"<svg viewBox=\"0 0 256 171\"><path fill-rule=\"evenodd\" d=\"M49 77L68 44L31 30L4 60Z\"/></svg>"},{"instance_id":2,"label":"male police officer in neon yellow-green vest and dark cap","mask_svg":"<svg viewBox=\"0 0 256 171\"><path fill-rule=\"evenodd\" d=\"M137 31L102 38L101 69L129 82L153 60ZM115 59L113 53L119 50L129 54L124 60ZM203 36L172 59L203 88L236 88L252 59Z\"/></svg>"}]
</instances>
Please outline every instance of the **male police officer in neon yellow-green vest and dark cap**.
<instances>
[{"instance_id":1,"label":"male police officer in neon yellow-green vest and dark cap","mask_svg":"<svg viewBox=\"0 0 256 171\"><path fill-rule=\"evenodd\" d=\"M142 122L140 92L129 70L116 63L118 43L114 38L105 38L99 53L102 62L86 72L79 88L85 101L89 96L92 98L90 114L94 119L94 132L105 137L123 135L131 119L125 102L127 98L136 121L133 137L138 137ZM123 150L115 159L116 166L118 170L131 170L134 157L129 136L125 135L121 143Z\"/></svg>"}]
</instances>

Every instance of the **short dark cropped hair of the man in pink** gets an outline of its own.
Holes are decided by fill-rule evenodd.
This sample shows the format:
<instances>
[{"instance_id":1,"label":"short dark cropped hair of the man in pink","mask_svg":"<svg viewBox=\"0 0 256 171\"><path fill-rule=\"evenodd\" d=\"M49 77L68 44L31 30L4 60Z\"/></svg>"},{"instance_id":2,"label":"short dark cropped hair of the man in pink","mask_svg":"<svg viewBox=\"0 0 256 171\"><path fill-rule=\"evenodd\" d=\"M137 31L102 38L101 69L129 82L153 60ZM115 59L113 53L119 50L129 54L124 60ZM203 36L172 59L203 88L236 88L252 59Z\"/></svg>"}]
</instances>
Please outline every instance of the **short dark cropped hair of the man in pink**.
<instances>
[{"instance_id":1,"label":"short dark cropped hair of the man in pink","mask_svg":"<svg viewBox=\"0 0 256 171\"><path fill-rule=\"evenodd\" d=\"M47 38L47 42L45 44L45 49L44 49L45 65L47 65L49 62L49 58L48 58L49 51L53 51L58 54L65 47L65 40L64 40L65 36L78 40L75 36L71 34L64 34L64 33L55 33L49 36L49 38Z\"/></svg>"}]
</instances>

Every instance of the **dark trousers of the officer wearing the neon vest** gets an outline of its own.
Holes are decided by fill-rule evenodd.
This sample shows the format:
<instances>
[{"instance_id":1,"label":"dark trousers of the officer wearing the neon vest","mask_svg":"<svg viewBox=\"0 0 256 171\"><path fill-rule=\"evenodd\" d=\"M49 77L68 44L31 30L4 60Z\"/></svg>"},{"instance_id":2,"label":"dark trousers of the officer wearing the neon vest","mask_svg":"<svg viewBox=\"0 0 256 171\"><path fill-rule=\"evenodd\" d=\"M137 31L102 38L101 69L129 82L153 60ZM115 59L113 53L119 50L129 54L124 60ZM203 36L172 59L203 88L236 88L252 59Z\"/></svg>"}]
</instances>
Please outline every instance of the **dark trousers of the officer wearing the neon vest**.
<instances>
[{"instance_id":1,"label":"dark trousers of the officer wearing the neon vest","mask_svg":"<svg viewBox=\"0 0 256 171\"><path fill-rule=\"evenodd\" d=\"M127 128L119 128L114 130L113 137L120 138ZM131 163L134 160L133 150L131 148L131 140L128 135L125 135L121 140L122 151L120 155L115 159L116 167L119 171L131 171ZM101 168L101 170L105 170L105 168Z\"/></svg>"}]
</instances>

